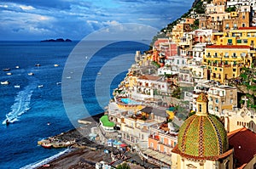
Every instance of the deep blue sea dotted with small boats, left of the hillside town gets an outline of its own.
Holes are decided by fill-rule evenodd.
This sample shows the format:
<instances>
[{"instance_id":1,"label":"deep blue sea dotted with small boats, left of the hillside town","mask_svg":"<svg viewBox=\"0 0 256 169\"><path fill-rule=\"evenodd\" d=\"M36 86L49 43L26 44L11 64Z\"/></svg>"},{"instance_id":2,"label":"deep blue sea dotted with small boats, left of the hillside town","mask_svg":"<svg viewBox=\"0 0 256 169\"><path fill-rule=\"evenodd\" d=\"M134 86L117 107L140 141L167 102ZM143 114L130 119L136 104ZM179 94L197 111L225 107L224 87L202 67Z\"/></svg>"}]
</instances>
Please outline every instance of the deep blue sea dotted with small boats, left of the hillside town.
<instances>
[{"instance_id":1,"label":"deep blue sea dotted with small boats, left of the hillside town","mask_svg":"<svg viewBox=\"0 0 256 169\"><path fill-rule=\"evenodd\" d=\"M0 82L9 82L0 84L0 168L35 168L66 153L68 149L44 149L38 141L102 113L134 64L136 51L148 50L149 42L103 44L108 45L86 42L75 58L79 41L0 42ZM79 64L70 67L67 62Z\"/></svg>"}]
</instances>

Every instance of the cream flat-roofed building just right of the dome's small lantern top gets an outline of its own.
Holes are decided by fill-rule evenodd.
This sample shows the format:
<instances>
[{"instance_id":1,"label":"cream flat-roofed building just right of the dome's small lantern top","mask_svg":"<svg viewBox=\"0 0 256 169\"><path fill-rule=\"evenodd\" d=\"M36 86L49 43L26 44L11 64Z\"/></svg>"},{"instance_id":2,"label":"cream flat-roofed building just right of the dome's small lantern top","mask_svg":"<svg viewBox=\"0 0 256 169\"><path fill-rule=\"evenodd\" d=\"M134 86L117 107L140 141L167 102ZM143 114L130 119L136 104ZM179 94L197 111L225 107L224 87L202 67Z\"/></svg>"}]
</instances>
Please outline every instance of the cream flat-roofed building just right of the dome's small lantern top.
<instances>
[{"instance_id":1,"label":"cream flat-roofed building just right of the dome's small lantern top","mask_svg":"<svg viewBox=\"0 0 256 169\"><path fill-rule=\"evenodd\" d=\"M208 90L208 111L212 115L221 116L224 110L233 110L237 107L236 87L220 85Z\"/></svg>"}]
</instances>

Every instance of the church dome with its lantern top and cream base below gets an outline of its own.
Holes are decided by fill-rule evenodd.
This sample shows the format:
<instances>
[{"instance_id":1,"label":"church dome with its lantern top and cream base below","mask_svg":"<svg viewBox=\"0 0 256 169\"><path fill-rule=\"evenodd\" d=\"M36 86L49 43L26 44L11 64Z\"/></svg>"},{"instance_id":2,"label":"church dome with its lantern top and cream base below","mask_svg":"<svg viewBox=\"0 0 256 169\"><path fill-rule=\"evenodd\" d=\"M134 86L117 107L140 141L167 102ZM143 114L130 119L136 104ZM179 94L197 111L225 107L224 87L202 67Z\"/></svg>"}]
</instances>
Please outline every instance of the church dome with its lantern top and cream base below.
<instances>
[{"instance_id":1,"label":"church dome with its lantern top and cream base below","mask_svg":"<svg viewBox=\"0 0 256 169\"><path fill-rule=\"evenodd\" d=\"M196 99L197 111L184 121L172 149L172 168L233 169L233 149L218 119L207 112L207 95Z\"/></svg>"}]
</instances>

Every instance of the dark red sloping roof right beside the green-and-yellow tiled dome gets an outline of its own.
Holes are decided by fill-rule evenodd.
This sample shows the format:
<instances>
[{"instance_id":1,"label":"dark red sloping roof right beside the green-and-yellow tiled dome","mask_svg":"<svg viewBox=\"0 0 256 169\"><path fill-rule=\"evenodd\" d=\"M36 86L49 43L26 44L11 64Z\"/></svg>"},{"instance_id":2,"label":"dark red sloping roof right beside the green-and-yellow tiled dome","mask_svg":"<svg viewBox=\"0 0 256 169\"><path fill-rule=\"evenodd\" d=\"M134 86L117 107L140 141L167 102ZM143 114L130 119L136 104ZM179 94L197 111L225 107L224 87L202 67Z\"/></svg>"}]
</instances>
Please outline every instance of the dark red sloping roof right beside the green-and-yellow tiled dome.
<instances>
[{"instance_id":1,"label":"dark red sloping roof right beside the green-and-yellow tiled dome","mask_svg":"<svg viewBox=\"0 0 256 169\"><path fill-rule=\"evenodd\" d=\"M229 143L234 147L236 167L245 166L256 155L256 133L246 127L228 133Z\"/></svg>"}]
</instances>

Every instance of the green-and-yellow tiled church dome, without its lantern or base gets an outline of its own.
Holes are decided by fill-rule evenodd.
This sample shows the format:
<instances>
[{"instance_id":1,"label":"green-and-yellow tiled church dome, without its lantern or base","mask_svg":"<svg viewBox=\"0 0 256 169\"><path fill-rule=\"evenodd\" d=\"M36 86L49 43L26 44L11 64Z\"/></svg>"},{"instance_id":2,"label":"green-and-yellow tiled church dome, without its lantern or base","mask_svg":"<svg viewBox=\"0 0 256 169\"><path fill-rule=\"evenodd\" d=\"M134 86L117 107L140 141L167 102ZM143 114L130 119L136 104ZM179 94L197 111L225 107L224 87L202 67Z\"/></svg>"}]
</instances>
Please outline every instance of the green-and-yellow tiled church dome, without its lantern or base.
<instances>
[{"instance_id":1,"label":"green-and-yellow tiled church dome, without its lantern or base","mask_svg":"<svg viewBox=\"0 0 256 169\"><path fill-rule=\"evenodd\" d=\"M224 126L213 115L192 115L178 132L177 149L183 155L212 159L228 147Z\"/></svg>"}]
</instances>

